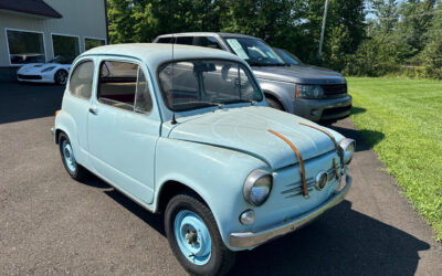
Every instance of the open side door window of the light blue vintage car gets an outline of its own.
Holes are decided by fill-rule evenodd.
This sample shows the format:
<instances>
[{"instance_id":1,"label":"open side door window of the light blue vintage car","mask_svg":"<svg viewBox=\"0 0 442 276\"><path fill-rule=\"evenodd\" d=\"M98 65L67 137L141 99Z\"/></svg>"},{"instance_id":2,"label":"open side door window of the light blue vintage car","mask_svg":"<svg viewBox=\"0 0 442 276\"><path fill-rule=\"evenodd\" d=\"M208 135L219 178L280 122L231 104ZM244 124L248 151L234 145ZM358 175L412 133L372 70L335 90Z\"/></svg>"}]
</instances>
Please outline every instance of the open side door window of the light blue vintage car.
<instances>
[{"instance_id":1,"label":"open side door window of the light blue vintage car","mask_svg":"<svg viewBox=\"0 0 442 276\"><path fill-rule=\"evenodd\" d=\"M129 112L148 113L152 108L146 76L130 62L102 62L97 98L102 104Z\"/></svg>"}]
</instances>

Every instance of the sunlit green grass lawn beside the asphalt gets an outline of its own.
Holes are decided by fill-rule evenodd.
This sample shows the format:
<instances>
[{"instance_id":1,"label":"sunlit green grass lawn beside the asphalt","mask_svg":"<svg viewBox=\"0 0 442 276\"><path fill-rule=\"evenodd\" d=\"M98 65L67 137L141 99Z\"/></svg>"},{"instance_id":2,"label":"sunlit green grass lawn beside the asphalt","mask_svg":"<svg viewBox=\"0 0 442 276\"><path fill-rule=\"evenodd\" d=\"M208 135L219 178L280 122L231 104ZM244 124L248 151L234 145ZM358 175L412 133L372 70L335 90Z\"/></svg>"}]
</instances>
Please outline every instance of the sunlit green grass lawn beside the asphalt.
<instances>
[{"instance_id":1,"label":"sunlit green grass lawn beside the asphalt","mask_svg":"<svg viewBox=\"0 0 442 276\"><path fill-rule=\"evenodd\" d=\"M442 241L442 82L347 81L352 121Z\"/></svg>"}]
</instances>

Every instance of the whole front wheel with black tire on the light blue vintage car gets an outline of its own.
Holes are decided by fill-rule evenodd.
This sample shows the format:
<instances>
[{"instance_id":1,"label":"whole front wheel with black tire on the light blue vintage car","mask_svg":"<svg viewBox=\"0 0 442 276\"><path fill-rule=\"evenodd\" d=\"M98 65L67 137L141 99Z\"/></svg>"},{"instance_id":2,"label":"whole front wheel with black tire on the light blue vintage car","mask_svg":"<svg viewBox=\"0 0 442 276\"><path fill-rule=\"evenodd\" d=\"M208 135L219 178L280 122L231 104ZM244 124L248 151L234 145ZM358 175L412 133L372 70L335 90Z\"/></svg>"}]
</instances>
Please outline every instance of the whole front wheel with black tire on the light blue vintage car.
<instances>
[{"instance_id":1,"label":"whole front wheel with black tire on the light blue vintage car","mask_svg":"<svg viewBox=\"0 0 442 276\"><path fill-rule=\"evenodd\" d=\"M178 194L169 201L165 230L175 256L190 274L224 275L233 266L235 253L225 247L212 212L197 197Z\"/></svg>"}]
</instances>

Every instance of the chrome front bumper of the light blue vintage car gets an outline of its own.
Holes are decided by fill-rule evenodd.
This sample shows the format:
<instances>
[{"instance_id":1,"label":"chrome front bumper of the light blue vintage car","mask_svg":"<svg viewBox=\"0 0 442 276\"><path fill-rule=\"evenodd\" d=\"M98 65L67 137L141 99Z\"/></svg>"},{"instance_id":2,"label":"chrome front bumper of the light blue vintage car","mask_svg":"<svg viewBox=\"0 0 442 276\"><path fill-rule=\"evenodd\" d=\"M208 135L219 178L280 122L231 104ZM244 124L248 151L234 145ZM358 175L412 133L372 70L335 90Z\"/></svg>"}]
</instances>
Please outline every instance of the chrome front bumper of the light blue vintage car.
<instances>
[{"instance_id":1,"label":"chrome front bumper of the light blue vintage car","mask_svg":"<svg viewBox=\"0 0 442 276\"><path fill-rule=\"evenodd\" d=\"M346 176L346 185L339 192L335 193L329 200L315 208L314 210L297 216L296 219L274 226L272 229L263 230L260 232L244 232L244 233L231 233L229 236L229 243L233 247L246 248L253 247L260 244L267 242L274 237L287 234L294 230L297 230L308 222L313 221L322 213L327 211L328 209L335 206L340 203L345 195L348 193L351 187L351 177Z\"/></svg>"}]
</instances>

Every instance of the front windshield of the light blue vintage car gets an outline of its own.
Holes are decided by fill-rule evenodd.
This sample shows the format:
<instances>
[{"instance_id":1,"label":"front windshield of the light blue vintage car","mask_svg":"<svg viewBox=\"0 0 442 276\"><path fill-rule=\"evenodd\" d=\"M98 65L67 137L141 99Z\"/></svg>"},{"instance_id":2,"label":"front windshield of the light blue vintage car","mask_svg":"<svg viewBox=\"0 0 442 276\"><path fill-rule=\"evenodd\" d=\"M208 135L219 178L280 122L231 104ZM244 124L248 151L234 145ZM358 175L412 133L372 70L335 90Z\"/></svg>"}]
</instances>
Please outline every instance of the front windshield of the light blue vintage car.
<instances>
[{"instance_id":1,"label":"front windshield of the light blue vintage car","mask_svg":"<svg viewBox=\"0 0 442 276\"><path fill-rule=\"evenodd\" d=\"M263 99L249 70L233 61L170 62L160 66L158 78L162 99L175 112Z\"/></svg>"}]
</instances>

